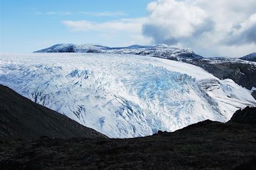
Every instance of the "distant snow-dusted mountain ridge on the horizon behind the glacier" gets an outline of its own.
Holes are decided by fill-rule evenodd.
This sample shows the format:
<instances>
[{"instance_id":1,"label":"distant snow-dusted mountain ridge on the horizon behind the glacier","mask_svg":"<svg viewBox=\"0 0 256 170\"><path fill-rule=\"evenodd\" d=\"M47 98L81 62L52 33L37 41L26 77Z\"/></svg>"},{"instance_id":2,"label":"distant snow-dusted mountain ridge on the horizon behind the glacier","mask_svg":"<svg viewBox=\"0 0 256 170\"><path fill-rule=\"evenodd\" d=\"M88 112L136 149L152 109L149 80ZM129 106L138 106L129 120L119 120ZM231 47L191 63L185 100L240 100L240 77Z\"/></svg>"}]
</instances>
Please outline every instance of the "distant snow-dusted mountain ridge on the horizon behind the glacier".
<instances>
[{"instance_id":1,"label":"distant snow-dusted mountain ridge on the horizon behind the glacier","mask_svg":"<svg viewBox=\"0 0 256 170\"><path fill-rule=\"evenodd\" d=\"M192 50L179 49L172 45L159 44L156 46L147 45L131 45L129 47L105 47L101 45L75 45L56 44L47 49L38 50L36 52L93 52L93 53L113 53L113 54L139 54L143 56L155 56L158 58L177 59L195 58L200 59Z\"/></svg>"}]
</instances>

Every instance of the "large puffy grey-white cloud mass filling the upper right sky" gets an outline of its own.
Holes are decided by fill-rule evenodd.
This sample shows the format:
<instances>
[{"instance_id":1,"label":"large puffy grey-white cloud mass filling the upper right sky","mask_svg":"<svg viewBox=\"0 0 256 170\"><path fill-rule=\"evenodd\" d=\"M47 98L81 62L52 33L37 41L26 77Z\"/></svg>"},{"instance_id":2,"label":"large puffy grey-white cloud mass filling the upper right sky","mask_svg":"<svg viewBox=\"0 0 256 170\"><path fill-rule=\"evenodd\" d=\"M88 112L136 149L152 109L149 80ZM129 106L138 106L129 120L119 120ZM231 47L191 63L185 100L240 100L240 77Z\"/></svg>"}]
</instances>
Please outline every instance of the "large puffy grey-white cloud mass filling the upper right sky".
<instances>
[{"instance_id":1,"label":"large puffy grey-white cloud mass filling the upper right sky","mask_svg":"<svg viewBox=\"0 0 256 170\"><path fill-rule=\"evenodd\" d=\"M147 6L143 35L203 56L230 56L230 49L244 55L256 50L255 5L255 0L154 1Z\"/></svg>"}]
</instances>

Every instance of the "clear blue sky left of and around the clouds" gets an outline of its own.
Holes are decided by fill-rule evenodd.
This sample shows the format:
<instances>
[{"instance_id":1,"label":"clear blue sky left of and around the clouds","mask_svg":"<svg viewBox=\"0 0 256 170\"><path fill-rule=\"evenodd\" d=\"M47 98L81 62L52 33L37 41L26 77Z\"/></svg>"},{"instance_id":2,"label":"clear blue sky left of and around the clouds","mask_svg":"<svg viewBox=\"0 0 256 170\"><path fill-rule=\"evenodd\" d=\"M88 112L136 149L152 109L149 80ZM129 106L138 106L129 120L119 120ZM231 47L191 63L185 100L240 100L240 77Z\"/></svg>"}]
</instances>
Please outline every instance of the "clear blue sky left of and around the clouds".
<instances>
[{"instance_id":1,"label":"clear blue sky left of and around the clouds","mask_svg":"<svg viewBox=\"0 0 256 170\"><path fill-rule=\"evenodd\" d=\"M118 45L118 42L101 42L92 31L72 32L62 21L106 22L141 17L147 15L145 7L149 2L1 0L1 52L33 52L54 43Z\"/></svg>"}]
</instances>

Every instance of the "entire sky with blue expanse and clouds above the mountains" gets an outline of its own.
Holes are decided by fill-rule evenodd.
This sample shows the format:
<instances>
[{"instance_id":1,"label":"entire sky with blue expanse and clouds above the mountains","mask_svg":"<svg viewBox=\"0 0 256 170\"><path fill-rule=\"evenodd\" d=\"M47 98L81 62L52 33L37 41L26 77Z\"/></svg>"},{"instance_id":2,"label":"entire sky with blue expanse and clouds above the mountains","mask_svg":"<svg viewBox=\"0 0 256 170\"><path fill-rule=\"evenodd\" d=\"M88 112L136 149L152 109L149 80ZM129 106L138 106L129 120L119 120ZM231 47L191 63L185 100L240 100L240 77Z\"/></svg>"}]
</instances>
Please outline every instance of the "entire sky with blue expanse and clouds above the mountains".
<instances>
[{"instance_id":1,"label":"entire sky with blue expanse and clouds above the mountains","mask_svg":"<svg viewBox=\"0 0 256 170\"><path fill-rule=\"evenodd\" d=\"M256 51L255 0L0 0L0 52L56 43L166 43L202 56Z\"/></svg>"}]
</instances>

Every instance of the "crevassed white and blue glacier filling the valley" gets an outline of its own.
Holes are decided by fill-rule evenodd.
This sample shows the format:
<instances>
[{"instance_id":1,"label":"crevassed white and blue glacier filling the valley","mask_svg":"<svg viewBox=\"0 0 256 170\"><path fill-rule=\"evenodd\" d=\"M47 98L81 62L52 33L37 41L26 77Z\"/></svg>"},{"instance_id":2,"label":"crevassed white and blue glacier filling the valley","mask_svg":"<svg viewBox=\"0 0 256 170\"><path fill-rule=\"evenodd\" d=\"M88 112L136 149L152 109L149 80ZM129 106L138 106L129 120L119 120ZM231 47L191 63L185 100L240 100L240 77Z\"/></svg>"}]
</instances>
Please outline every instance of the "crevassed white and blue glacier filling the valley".
<instances>
[{"instance_id":1,"label":"crevassed white and blue glacier filling the valley","mask_svg":"<svg viewBox=\"0 0 256 170\"><path fill-rule=\"evenodd\" d=\"M256 105L248 89L198 66L130 54L1 54L0 84L109 137L225 122Z\"/></svg>"}]
</instances>

